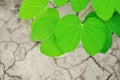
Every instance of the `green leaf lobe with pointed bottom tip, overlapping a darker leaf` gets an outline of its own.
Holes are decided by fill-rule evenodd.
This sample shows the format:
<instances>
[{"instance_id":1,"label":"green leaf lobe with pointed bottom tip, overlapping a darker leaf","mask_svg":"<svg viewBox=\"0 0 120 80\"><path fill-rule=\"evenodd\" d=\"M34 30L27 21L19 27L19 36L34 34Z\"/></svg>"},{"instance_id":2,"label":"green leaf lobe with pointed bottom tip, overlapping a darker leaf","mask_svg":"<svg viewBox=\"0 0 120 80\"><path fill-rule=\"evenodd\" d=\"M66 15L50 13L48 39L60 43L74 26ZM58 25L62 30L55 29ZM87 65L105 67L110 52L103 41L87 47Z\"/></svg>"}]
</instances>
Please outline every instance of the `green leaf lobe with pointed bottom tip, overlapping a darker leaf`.
<instances>
[{"instance_id":1,"label":"green leaf lobe with pointed bottom tip, overlapping a darker leaf","mask_svg":"<svg viewBox=\"0 0 120 80\"><path fill-rule=\"evenodd\" d=\"M105 42L105 25L96 18L88 18L82 27L82 45L90 56L97 54Z\"/></svg>"}]
</instances>

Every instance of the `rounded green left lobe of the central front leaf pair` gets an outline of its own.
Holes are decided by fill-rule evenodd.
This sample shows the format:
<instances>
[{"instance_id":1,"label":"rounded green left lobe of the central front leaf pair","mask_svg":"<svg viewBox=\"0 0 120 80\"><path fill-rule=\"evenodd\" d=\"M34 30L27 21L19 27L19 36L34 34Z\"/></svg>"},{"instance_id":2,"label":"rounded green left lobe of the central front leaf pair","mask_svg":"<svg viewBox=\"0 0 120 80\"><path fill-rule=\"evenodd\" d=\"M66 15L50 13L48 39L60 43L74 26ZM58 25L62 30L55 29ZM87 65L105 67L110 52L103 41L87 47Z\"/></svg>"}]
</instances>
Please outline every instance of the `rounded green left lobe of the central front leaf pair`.
<instances>
[{"instance_id":1,"label":"rounded green left lobe of the central front leaf pair","mask_svg":"<svg viewBox=\"0 0 120 80\"><path fill-rule=\"evenodd\" d=\"M80 42L81 25L76 15L66 15L56 27L56 37L60 48L65 52L74 50Z\"/></svg>"}]
</instances>

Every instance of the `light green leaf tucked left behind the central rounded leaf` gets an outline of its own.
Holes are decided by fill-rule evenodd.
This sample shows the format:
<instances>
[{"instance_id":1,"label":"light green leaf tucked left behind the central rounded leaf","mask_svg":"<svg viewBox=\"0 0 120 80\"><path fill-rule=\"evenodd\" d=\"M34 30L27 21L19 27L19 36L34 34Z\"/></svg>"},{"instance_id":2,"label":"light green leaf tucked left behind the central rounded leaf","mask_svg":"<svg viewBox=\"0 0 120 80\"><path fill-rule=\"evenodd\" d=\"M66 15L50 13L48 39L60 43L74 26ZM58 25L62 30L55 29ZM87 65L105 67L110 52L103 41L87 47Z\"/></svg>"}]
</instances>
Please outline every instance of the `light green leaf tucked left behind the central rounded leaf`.
<instances>
[{"instance_id":1,"label":"light green leaf tucked left behind the central rounded leaf","mask_svg":"<svg viewBox=\"0 0 120 80\"><path fill-rule=\"evenodd\" d=\"M32 25L31 39L34 41L43 41L54 34L55 24L58 17L43 17Z\"/></svg>"}]
</instances>

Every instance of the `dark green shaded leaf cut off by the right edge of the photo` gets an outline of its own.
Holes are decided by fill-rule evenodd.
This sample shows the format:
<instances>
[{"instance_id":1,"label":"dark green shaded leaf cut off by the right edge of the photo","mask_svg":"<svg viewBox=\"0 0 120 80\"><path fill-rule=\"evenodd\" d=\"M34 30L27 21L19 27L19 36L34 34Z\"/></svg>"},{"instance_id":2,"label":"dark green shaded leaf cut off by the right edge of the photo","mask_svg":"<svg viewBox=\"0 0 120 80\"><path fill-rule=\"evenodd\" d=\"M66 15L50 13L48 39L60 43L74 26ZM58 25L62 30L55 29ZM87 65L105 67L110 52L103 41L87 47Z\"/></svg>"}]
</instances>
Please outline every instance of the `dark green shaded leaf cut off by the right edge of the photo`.
<instances>
[{"instance_id":1,"label":"dark green shaded leaf cut off by the right edge of the photo","mask_svg":"<svg viewBox=\"0 0 120 80\"><path fill-rule=\"evenodd\" d=\"M113 17L106 22L106 24L113 33L120 37L120 14L115 13Z\"/></svg>"}]
</instances>

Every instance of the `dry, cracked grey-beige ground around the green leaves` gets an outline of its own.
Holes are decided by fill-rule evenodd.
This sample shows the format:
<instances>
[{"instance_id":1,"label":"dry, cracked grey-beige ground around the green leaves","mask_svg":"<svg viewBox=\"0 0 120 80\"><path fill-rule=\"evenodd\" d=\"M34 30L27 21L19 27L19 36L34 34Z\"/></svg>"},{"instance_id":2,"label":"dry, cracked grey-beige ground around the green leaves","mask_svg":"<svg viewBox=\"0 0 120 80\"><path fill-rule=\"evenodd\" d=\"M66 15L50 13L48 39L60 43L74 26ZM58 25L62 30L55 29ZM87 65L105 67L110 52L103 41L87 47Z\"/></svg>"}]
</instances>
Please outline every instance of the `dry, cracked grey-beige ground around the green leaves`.
<instances>
[{"instance_id":1,"label":"dry, cracked grey-beige ground around the green leaves","mask_svg":"<svg viewBox=\"0 0 120 80\"><path fill-rule=\"evenodd\" d=\"M120 80L120 39L107 54L89 57L79 46L59 58L39 52L30 40L30 22L18 18L21 0L0 0L0 80ZM50 6L51 5L50 3ZM69 3L61 16L74 13Z\"/></svg>"}]
</instances>

